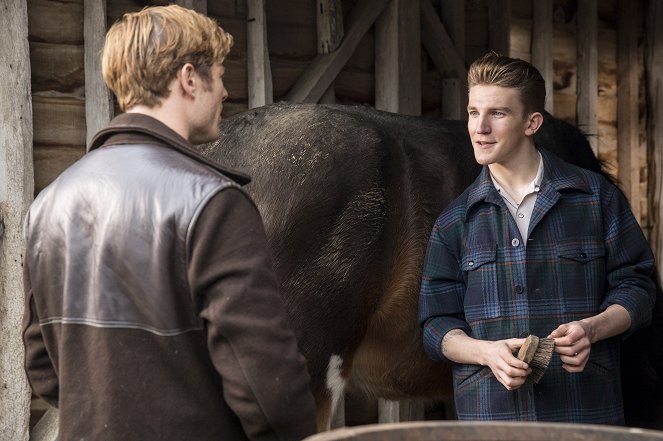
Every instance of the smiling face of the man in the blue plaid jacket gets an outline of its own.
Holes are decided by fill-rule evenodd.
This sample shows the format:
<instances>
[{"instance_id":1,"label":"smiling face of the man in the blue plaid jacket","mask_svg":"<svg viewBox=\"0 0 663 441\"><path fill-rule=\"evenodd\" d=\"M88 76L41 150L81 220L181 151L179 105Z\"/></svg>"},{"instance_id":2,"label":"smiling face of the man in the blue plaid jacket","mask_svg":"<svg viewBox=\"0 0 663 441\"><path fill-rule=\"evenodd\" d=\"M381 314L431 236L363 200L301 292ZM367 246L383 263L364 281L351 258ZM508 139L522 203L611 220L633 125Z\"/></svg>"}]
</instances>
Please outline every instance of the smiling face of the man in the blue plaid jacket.
<instances>
[{"instance_id":1,"label":"smiling face of the man in the blue plaid jacket","mask_svg":"<svg viewBox=\"0 0 663 441\"><path fill-rule=\"evenodd\" d=\"M529 121L518 90L472 86L467 113L467 129L479 164L506 165L531 146L526 135Z\"/></svg>"}]
</instances>

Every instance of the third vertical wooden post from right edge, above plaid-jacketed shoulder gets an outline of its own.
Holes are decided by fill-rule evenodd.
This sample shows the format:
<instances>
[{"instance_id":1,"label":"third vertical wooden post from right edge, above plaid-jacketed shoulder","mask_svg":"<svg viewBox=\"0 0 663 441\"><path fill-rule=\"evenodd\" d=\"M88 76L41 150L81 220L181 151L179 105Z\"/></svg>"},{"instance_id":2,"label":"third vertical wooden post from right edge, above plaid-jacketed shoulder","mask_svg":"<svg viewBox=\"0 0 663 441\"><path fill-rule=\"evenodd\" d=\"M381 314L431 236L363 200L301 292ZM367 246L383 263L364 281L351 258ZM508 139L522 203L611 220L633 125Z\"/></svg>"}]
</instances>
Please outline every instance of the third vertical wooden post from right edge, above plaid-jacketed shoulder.
<instances>
[{"instance_id":1,"label":"third vertical wooden post from right edge, above plaid-jacketed shoulder","mask_svg":"<svg viewBox=\"0 0 663 441\"><path fill-rule=\"evenodd\" d=\"M578 127L589 134L598 132L597 21L596 0L578 2ZM598 155L598 143L590 138L590 144Z\"/></svg>"}]
</instances>

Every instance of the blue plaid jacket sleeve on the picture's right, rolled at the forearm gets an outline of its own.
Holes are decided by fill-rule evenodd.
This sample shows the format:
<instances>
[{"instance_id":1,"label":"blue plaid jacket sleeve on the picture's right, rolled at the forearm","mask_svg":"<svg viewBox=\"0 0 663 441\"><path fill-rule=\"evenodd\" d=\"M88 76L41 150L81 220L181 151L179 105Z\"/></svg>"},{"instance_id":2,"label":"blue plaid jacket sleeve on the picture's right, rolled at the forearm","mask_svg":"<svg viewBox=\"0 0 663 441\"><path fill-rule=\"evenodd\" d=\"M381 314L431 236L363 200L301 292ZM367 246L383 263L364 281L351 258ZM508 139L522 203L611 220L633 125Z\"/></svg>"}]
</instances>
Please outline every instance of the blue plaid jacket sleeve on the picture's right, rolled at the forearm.
<instances>
[{"instance_id":1,"label":"blue plaid jacket sleeve on the picture's right, rolled at the forearm","mask_svg":"<svg viewBox=\"0 0 663 441\"><path fill-rule=\"evenodd\" d=\"M649 324L656 301L654 256L635 220L628 201L617 188L606 192L604 232L607 292L601 310L611 304L626 308L631 316L628 337Z\"/></svg>"}]
</instances>

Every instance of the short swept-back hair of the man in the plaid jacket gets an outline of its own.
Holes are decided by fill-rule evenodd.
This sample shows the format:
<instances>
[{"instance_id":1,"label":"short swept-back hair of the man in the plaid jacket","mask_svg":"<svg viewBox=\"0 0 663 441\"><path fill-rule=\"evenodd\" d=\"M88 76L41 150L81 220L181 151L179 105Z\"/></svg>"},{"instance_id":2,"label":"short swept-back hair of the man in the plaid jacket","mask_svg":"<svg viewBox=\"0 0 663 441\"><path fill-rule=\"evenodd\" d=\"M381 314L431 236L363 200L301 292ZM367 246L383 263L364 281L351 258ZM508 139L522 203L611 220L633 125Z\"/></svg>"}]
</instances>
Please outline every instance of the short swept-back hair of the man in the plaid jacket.
<instances>
[{"instance_id":1,"label":"short swept-back hair of the man in the plaid jacket","mask_svg":"<svg viewBox=\"0 0 663 441\"><path fill-rule=\"evenodd\" d=\"M501 86L517 89L525 113L543 112L546 82L530 63L488 52L478 58L467 71L467 87Z\"/></svg>"}]
</instances>

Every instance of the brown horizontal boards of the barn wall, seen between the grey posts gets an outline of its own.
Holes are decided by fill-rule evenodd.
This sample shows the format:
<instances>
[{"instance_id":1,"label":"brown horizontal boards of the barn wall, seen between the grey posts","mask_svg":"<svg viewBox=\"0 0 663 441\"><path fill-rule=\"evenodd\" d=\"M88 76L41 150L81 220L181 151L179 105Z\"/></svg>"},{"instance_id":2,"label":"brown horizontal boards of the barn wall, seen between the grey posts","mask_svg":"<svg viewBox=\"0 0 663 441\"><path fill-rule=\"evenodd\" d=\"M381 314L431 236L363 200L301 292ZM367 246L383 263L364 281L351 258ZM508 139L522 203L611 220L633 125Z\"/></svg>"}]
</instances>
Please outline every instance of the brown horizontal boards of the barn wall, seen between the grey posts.
<instances>
[{"instance_id":1,"label":"brown horizontal boards of the barn wall, seen between the grey posts","mask_svg":"<svg viewBox=\"0 0 663 441\"><path fill-rule=\"evenodd\" d=\"M440 0L431 0L440 7ZM34 109L35 191L39 192L66 166L85 152L83 0L28 0L30 58ZM107 0L108 23L128 11L148 4L139 0ZM150 1L149 4L169 2ZM346 14L356 0L343 0ZM616 3L598 2L598 151L616 175L617 80ZM469 65L489 48L488 5L490 0L465 2L465 61ZM644 0L640 0L644 11ZM510 51L531 61L532 1L511 1ZM226 87L230 99L224 116L247 108L246 0L207 2L207 13L235 39L226 61ZM576 122L576 8L573 0L553 2L554 114ZM314 0L267 0L267 30L273 75L274 100L290 90L306 66L317 55ZM641 14L642 15L642 14ZM643 26L641 25L641 28ZM640 38L639 65L644 72ZM373 31L359 47L335 82L336 101L372 106L374 90ZM647 224L646 136L644 79L640 79L640 203L643 225ZM422 50L422 113L440 114L441 77ZM633 203L633 202L632 202Z\"/></svg>"}]
</instances>

